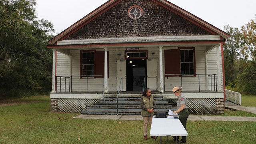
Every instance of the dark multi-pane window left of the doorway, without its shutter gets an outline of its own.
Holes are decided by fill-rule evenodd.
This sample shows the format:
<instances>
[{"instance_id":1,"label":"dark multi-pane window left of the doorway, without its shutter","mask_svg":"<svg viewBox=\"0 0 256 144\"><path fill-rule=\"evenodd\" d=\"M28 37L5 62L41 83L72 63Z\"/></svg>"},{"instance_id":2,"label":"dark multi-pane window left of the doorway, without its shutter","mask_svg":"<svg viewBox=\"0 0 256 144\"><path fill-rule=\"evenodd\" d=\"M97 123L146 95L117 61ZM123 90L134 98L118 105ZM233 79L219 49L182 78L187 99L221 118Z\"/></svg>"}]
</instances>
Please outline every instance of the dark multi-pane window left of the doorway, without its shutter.
<instances>
[{"instance_id":1,"label":"dark multi-pane window left of the doorway, without its shutter","mask_svg":"<svg viewBox=\"0 0 256 144\"><path fill-rule=\"evenodd\" d=\"M82 76L94 76L94 52L82 52Z\"/></svg>"}]
</instances>

